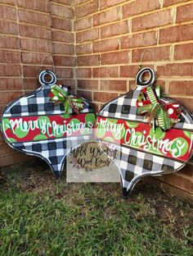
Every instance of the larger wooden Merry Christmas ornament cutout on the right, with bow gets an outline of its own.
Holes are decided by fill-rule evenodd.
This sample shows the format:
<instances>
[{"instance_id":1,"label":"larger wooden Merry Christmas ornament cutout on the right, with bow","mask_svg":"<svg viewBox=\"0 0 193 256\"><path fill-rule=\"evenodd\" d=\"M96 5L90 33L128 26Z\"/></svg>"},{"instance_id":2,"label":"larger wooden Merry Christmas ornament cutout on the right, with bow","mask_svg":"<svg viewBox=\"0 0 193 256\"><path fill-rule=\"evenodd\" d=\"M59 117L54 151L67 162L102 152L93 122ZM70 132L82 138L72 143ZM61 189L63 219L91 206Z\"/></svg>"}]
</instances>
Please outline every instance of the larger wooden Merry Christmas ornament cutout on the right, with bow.
<instances>
[{"instance_id":1,"label":"larger wooden Merry Christmas ornament cutout on the right, with bow","mask_svg":"<svg viewBox=\"0 0 193 256\"><path fill-rule=\"evenodd\" d=\"M106 103L96 118L97 139L120 151L114 163L125 198L141 177L178 171L191 158L191 114L172 99L161 97L154 83L155 71L142 68L136 76L137 87Z\"/></svg>"}]
</instances>

